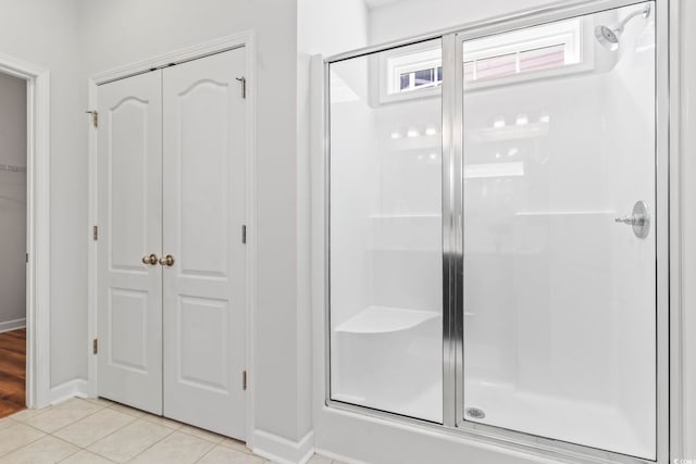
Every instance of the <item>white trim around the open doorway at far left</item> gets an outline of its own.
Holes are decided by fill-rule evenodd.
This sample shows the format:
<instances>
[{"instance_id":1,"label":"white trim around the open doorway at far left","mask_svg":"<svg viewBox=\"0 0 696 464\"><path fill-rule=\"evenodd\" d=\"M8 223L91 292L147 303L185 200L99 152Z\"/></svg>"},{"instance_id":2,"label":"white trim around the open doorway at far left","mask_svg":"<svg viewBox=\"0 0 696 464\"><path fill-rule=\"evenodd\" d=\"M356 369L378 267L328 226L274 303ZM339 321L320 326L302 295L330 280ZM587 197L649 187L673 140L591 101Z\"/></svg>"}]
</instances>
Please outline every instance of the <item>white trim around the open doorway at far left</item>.
<instances>
[{"instance_id":1,"label":"white trim around the open doorway at far left","mask_svg":"<svg viewBox=\"0 0 696 464\"><path fill-rule=\"evenodd\" d=\"M27 263L26 403L50 403L50 73L0 53L0 72L26 80Z\"/></svg>"}]
</instances>

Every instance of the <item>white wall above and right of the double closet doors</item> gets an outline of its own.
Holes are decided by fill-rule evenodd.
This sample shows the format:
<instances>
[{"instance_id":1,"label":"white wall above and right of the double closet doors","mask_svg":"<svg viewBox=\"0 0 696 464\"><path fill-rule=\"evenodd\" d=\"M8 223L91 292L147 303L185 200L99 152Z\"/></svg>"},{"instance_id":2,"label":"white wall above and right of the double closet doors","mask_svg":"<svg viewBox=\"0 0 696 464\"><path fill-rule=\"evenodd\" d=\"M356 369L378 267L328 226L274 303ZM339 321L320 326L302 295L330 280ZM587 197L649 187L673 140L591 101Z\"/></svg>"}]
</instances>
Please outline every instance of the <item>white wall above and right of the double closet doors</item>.
<instances>
[{"instance_id":1,"label":"white wall above and right of the double closet doors","mask_svg":"<svg viewBox=\"0 0 696 464\"><path fill-rule=\"evenodd\" d=\"M272 0L80 1L80 90L87 77L253 29L257 34L258 296L256 428L297 442L310 428L308 335L298 310L296 2ZM87 139L86 127L83 138ZM253 236L253 231L250 231ZM304 312L309 311L307 306Z\"/></svg>"}]
</instances>

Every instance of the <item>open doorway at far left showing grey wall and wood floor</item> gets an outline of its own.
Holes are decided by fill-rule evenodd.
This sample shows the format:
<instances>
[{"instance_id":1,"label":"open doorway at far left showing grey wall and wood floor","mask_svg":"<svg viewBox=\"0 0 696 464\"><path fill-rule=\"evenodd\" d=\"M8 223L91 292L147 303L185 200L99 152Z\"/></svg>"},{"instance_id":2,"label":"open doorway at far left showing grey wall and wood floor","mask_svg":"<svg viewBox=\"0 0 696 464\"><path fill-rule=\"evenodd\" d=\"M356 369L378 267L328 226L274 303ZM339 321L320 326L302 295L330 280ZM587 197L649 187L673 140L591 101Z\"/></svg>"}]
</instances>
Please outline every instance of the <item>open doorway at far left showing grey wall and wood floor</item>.
<instances>
[{"instance_id":1,"label":"open doorway at far left showing grey wall and wood floor","mask_svg":"<svg viewBox=\"0 0 696 464\"><path fill-rule=\"evenodd\" d=\"M26 407L27 81L0 73L0 417Z\"/></svg>"}]
</instances>

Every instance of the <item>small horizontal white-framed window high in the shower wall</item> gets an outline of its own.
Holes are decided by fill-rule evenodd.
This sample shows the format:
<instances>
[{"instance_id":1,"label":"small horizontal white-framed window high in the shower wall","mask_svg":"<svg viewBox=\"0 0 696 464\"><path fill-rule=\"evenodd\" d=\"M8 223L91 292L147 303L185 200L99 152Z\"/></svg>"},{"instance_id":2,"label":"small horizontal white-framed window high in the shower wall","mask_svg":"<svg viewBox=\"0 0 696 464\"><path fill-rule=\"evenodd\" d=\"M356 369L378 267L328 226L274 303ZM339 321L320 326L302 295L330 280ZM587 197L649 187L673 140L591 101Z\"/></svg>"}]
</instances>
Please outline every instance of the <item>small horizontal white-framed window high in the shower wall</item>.
<instances>
[{"instance_id":1,"label":"small horizontal white-framed window high in the shower wall","mask_svg":"<svg viewBox=\"0 0 696 464\"><path fill-rule=\"evenodd\" d=\"M582 17L464 42L469 89L559 77L595 68L592 24ZM380 57L380 103L428 98L440 92L442 50L432 42Z\"/></svg>"}]
</instances>

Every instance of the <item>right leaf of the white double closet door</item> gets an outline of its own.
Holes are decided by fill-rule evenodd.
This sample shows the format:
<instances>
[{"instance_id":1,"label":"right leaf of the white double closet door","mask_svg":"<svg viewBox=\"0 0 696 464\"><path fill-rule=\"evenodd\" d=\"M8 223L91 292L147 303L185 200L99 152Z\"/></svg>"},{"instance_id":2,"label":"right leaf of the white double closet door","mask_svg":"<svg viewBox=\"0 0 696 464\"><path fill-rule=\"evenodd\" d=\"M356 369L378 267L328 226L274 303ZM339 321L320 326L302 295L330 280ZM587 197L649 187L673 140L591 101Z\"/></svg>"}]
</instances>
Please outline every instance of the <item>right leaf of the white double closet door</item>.
<instances>
[{"instance_id":1,"label":"right leaf of the white double closet door","mask_svg":"<svg viewBox=\"0 0 696 464\"><path fill-rule=\"evenodd\" d=\"M164 414L245 438L244 49L163 72Z\"/></svg>"}]
</instances>

